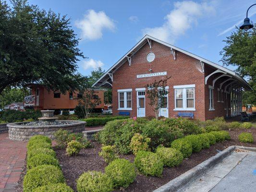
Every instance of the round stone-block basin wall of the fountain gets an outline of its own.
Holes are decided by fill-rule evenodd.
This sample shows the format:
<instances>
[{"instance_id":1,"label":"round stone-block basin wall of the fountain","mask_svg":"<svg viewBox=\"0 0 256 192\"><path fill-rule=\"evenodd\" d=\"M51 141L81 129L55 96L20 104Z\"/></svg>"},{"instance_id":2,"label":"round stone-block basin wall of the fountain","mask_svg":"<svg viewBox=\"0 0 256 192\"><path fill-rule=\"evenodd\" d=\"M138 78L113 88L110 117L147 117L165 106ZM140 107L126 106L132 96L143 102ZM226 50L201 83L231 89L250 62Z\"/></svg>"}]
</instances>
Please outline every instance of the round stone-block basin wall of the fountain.
<instances>
[{"instance_id":1,"label":"round stone-block basin wall of the fountain","mask_svg":"<svg viewBox=\"0 0 256 192\"><path fill-rule=\"evenodd\" d=\"M51 139L54 139L54 132L59 129L67 130L69 132L83 132L85 131L85 121L81 120L60 120L68 121L70 124L60 125L37 125L37 126L26 126L25 122L9 123L9 139L13 141L26 141L34 135L46 135ZM38 122L38 121L34 121Z\"/></svg>"}]
</instances>

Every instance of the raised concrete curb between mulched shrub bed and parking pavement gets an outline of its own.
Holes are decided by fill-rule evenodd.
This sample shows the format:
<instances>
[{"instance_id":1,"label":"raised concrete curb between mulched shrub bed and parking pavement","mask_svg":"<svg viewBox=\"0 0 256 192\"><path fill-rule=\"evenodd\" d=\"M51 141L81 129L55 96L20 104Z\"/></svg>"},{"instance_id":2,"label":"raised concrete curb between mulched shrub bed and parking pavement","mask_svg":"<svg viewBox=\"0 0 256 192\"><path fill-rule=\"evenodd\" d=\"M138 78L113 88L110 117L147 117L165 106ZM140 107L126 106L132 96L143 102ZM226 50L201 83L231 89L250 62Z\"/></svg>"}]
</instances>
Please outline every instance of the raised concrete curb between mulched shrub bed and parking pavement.
<instances>
[{"instance_id":1,"label":"raised concrete curb between mulched shrub bed and parking pavement","mask_svg":"<svg viewBox=\"0 0 256 192\"><path fill-rule=\"evenodd\" d=\"M219 163L221 160L229 156L237 146L230 146L227 149L219 152L215 156L212 156L205 160L204 162L200 163L199 165L195 166L194 168L188 170L187 172L183 173L179 177L169 181L165 185L162 185L154 192L177 192L180 188L184 185L188 184L192 180L195 180L199 175L205 173L207 169L211 168L212 166ZM239 148L239 147L238 147ZM249 147L251 148L251 147ZM243 148L244 150L247 150ZM256 150L256 149L255 149Z\"/></svg>"}]
</instances>

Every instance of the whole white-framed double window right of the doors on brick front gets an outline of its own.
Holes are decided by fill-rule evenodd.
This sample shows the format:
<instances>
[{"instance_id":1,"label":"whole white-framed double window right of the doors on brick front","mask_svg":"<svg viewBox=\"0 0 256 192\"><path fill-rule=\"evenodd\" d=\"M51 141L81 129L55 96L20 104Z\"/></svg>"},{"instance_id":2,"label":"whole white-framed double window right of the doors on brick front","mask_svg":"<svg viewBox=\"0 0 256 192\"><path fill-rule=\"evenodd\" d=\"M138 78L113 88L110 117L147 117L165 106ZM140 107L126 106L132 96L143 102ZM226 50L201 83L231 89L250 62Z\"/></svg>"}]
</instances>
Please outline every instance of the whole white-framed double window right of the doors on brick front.
<instances>
[{"instance_id":1,"label":"whole white-framed double window right of the doors on brick front","mask_svg":"<svg viewBox=\"0 0 256 192\"><path fill-rule=\"evenodd\" d=\"M175 110L195 110L194 84L174 86L174 95Z\"/></svg>"}]
</instances>

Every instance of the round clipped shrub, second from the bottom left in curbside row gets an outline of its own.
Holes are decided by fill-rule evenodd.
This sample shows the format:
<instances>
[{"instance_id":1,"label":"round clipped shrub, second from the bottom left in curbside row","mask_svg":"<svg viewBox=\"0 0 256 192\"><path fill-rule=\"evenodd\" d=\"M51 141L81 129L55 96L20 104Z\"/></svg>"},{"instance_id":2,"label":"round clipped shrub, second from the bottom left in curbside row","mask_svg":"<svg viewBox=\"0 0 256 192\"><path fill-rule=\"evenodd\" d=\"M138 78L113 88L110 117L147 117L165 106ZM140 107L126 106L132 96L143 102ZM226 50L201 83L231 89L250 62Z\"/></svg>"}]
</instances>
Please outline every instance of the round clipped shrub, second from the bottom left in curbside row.
<instances>
[{"instance_id":1,"label":"round clipped shrub, second from the bottom left in curbside row","mask_svg":"<svg viewBox=\"0 0 256 192\"><path fill-rule=\"evenodd\" d=\"M136 177L134 164L120 158L115 159L105 168L105 174L113 181L114 188L126 188Z\"/></svg>"}]
</instances>

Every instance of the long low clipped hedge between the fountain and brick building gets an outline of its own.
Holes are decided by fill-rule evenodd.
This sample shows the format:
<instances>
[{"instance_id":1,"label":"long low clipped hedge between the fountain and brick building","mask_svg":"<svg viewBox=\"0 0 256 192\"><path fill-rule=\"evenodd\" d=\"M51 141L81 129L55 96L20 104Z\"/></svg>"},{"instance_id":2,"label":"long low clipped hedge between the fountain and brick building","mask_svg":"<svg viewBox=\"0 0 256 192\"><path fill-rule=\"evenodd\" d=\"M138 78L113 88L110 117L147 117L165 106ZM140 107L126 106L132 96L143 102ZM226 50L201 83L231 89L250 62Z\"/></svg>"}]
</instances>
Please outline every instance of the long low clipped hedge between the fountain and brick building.
<instances>
[{"instance_id":1,"label":"long low clipped hedge between the fountain and brick building","mask_svg":"<svg viewBox=\"0 0 256 192\"><path fill-rule=\"evenodd\" d=\"M99 126L99 125L105 125L107 122L111 120L123 120L128 119L130 117L124 117L124 116L114 116L114 117L104 117L104 118L88 118L88 119L80 119L83 121L86 121L86 126Z\"/></svg>"}]
</instances>

